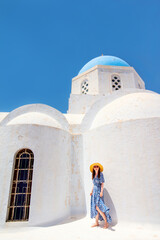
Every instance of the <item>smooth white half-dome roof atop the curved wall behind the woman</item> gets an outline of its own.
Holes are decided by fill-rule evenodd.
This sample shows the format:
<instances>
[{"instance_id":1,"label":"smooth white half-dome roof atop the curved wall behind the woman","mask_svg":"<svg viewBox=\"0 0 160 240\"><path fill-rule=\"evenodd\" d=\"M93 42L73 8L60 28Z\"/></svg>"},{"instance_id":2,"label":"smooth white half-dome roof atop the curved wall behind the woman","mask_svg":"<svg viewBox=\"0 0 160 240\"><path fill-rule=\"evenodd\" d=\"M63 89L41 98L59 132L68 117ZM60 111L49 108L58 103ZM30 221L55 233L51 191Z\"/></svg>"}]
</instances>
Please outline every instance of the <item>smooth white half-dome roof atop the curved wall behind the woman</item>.
<instances>
[{"instance_id":1,"label":"smooth white half-dome roof atop the curved wall behind the woman","mask_svg":"<svg viewBox=\"0 0 160 240\"><path fill-rule=\"evenodd\" d=\"M105 105L95 116L91 129L134 119L160 117L160 95L131 93Z\"/></svg>"}]
</instances>

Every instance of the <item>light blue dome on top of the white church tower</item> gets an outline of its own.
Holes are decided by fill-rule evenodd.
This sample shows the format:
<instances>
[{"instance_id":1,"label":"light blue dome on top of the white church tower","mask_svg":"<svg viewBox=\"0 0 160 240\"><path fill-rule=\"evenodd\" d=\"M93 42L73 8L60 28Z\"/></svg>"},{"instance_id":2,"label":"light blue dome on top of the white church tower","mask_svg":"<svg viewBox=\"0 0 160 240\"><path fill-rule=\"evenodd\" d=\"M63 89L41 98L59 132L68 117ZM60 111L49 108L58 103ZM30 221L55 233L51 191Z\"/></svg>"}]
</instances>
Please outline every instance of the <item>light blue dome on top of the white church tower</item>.
<instances>
[{"instance_id":1,"label":"light blue dome on top of the white church tower","mask_svg":"<svg viewBox=\"0 0 160 240\"><path fill-rule=\"evenodd\" d=\"M79 71L78 75L87 71L88 69L96 66L96 65L108 65L108 66L122 66L122 67L130 67L128 63L124 60L114 57L114 56L100 56L93 58L89 61L83 68Z\"/></svg>"}]
</instances>

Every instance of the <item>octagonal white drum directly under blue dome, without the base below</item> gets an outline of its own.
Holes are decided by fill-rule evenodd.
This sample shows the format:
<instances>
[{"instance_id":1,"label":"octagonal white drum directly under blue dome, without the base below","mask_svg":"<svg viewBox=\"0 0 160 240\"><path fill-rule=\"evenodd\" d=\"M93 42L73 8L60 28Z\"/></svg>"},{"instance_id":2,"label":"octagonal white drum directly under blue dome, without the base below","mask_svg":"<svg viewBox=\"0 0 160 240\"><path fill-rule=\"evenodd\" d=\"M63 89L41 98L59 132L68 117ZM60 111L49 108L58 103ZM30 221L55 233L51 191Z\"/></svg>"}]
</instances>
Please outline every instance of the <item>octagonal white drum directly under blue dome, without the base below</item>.
<instances>
[{"instance_id":1,"label":"octagonal white drum directly under blue dome, without the base below","mask_svg":"<svg viewBox=\"0 0 160 240\"><path fill-rule=\"evenodd\" d=\"M72 79L71 94L81 94L81 83L84 80L88 80L89 83L87 94L112 93L111 76L114 74L120 76L122 89L145 88L143 80L133 67L97 65ZM137 84L138 82L141 87Z\"/></svg>"}]
</instances>

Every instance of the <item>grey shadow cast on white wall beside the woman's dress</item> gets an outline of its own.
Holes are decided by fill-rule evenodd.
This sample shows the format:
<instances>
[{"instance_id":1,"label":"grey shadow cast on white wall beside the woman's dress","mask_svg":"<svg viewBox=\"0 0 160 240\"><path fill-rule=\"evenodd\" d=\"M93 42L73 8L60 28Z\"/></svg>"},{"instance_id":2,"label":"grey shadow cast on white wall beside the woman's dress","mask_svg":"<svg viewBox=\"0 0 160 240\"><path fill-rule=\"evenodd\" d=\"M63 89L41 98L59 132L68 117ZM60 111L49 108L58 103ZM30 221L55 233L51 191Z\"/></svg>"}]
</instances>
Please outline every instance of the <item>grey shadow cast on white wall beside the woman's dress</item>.
<instances>
[{"instance_id":1,"label":"grey shadow cast on white wall beside the woman's dress","mask_svg":"<svg viewBox=\"0 0 160 240\"><path fill-rule=\"evenodd\" d=\"M112 218L111 225L114 226L118 223L117 213L116 213L116 209L114 207L113 201L112 201L108 191L106 190L106 188L104 188L104 203L107 205L107 207L110 208L109 214Z\"/></svg>"}]
</instances>

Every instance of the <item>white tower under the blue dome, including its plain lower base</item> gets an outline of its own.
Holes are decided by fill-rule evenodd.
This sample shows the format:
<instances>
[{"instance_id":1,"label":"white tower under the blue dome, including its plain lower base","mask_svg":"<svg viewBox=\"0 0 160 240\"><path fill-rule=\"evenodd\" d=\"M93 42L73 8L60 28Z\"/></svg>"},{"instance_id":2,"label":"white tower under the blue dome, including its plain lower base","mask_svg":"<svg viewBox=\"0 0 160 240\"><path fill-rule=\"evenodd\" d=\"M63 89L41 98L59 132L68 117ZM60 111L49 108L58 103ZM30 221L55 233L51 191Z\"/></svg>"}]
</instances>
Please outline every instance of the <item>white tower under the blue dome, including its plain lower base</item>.
<instances>
[{"instance_id":1,"label":"white tower under the blue dome, including its plain lower base","mask_svg":"<svg viewBox=\"0 0 160 240\"><path fill-rule=\"evenodd\" d=\"M111 76L117 74L121 79L121 88L112 90ZM88 80L88 93L81 93L81 84ZM94 66L72 79L72 90L67 113L85 114L97 100L112 94L121 96L129 92L145 91L145 84L132 67Z\"/></svg>"}]
</instances>

